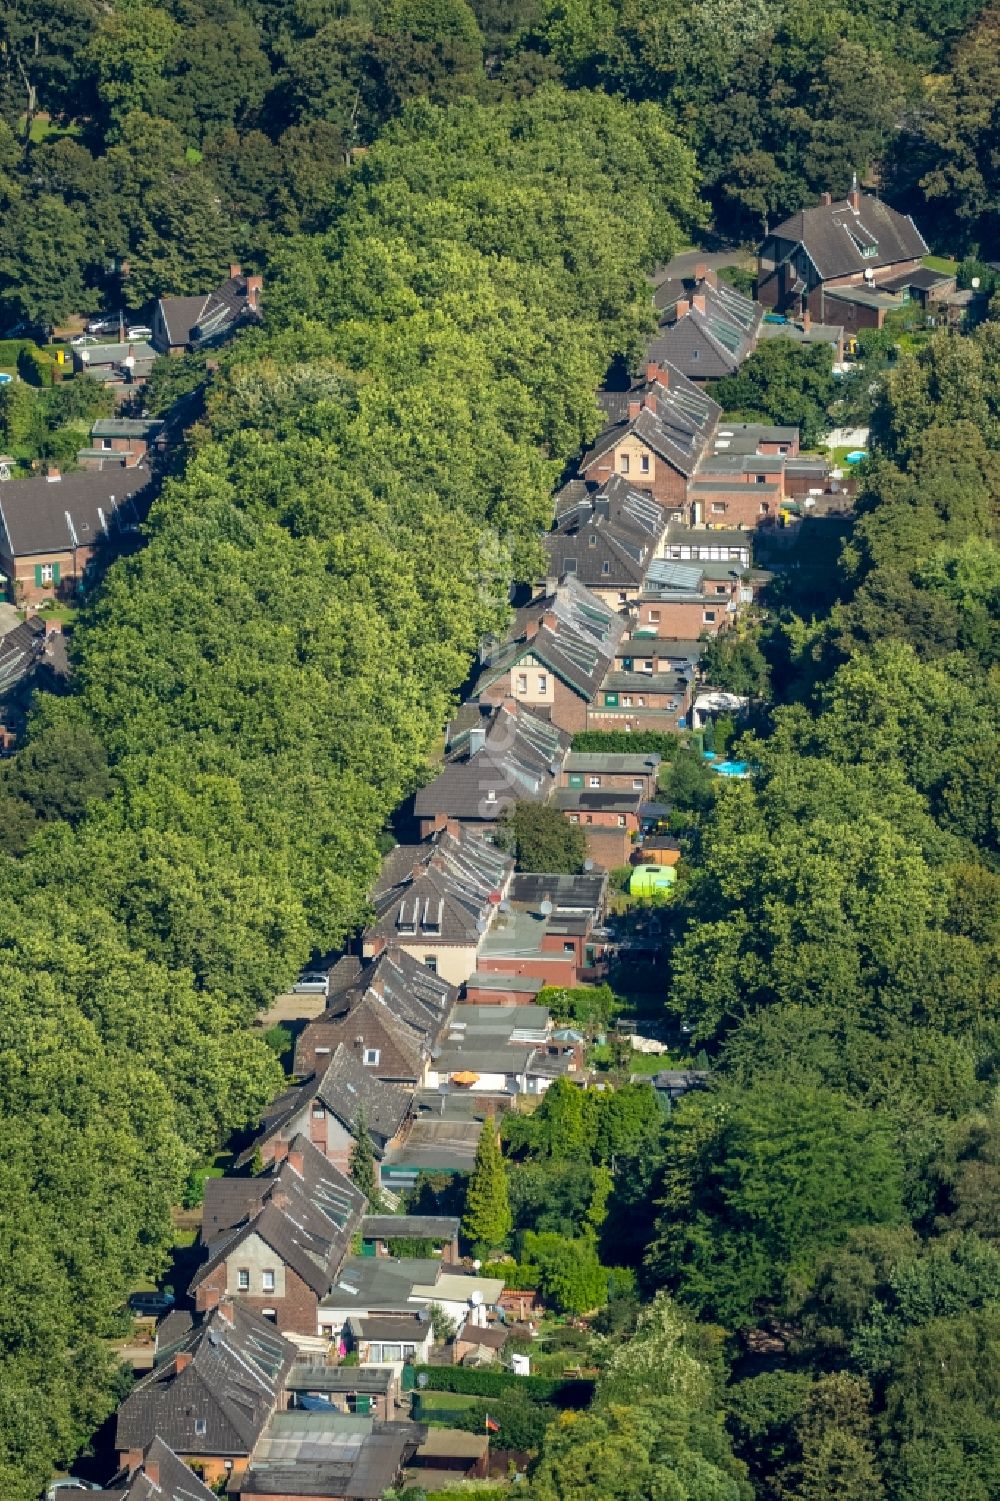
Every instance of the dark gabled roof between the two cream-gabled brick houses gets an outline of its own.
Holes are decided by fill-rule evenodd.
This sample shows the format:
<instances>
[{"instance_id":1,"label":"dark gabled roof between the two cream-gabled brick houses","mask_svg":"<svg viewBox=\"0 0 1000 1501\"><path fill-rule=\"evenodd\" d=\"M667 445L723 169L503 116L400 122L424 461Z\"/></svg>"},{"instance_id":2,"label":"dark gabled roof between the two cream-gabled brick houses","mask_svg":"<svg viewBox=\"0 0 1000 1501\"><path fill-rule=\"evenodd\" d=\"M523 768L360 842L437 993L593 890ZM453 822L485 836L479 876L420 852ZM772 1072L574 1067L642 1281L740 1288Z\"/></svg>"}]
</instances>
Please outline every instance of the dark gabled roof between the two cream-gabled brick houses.
<instances>
[{"instance_id":1,"label":"dark gabled roof between the two cream-gabled brick houses","mask_svg":"<svg viewBox=\"0 0 1000 1501\"><path fill-rule=\"evenodd\" d=\"M667 528L652 495L613 474L595 495L566 486L556 507L556 527L542 539L556 576L572 573L587 588L641 582Z\"/></svg>"}]
</instances>

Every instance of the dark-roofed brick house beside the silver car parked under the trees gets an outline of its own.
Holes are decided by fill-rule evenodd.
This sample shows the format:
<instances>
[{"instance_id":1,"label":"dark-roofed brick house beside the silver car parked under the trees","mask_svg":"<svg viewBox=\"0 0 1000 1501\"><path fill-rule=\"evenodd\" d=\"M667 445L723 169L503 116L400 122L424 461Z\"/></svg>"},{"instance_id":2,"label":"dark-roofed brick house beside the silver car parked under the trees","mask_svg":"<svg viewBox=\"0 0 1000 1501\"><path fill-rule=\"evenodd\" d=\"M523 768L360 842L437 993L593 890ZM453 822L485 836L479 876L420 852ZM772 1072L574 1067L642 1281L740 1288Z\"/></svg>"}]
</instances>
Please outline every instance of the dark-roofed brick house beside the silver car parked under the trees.
<instances>
[{"instance_id":1,"label":"dark-roofed brick house beside the silver car parked under the trees","mask_svg":"<svg viewBox=\"0 0 1000 1501\"><path fill-rule=\"evenodd\" d=\"M294 1072L323 1070L342 1043L366 1060L375 1054L369 1067L384 1084L416 1088L458 995L401 949L368 962L350 956L330 971L326 1010L299 1033Z\"/></svg>"}]
</instances>

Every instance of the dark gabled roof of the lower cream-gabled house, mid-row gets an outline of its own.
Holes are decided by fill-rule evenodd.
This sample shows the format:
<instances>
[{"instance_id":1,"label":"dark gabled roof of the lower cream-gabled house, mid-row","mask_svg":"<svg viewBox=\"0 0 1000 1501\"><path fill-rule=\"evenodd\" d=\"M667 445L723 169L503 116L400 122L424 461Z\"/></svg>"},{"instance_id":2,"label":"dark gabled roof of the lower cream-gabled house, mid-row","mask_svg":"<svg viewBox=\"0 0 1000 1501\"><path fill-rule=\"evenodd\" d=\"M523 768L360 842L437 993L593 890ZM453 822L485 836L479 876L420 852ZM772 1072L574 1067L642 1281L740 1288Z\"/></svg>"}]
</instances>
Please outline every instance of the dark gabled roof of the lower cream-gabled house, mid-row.
<instances>
[{"instance_id":1,"label":"dark gabled roof of the lower cream-gabled house, mid-row","mask_svg":"<svg viewBox=\"0 0 1000 1501\"><path fill-rule=\"evenodd\" d=\"M506 642L489 653L473 696L526 657L538 657L580 698L590 701L625 630L625 620L572 575L523 609Z\"/></svg>"}]
</instances>

